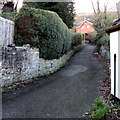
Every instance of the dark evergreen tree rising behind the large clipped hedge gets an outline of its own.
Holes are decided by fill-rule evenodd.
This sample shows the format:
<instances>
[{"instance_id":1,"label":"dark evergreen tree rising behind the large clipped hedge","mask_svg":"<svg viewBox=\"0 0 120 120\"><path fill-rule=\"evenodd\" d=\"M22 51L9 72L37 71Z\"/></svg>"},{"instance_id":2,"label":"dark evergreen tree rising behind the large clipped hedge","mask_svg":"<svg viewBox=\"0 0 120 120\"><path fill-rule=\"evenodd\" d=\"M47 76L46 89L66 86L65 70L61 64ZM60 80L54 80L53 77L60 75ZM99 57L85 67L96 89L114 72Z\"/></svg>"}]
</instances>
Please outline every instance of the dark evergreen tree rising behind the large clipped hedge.
<instances>
[{"instance_id":1,"label":"dark evergreen tree rising behind the large clipped hedge","mask_svg":"<svg viewBox=\"0 0 120 120\"><path fill-rule=\"evenodd\" d=\"M74 22L74 3L73 2L38 2L26 3L27 6L45 9L56 12L63 22L69 27L73 27Z\"/></svg>"}]
</instances>

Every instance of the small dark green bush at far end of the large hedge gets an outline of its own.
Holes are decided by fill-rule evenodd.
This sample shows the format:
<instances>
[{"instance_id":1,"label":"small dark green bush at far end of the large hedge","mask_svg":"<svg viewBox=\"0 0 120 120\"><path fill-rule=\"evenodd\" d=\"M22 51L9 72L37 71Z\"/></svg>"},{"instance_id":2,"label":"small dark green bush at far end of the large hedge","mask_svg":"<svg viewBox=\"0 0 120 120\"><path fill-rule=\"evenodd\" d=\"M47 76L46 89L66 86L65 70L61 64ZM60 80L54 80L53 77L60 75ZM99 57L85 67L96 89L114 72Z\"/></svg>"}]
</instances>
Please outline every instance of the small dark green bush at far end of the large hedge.
<instances>
[{"instance_id":1,"label":"small dark green bush at far end of the large hedge","mask_svg":"<svg viewBox=\"0 0 120 120\"><path fill-rule=\"evenodd\" d=\"M80 33L74 33L72 35L72 46L77 46L79 44L82 44L82 39L83 39L83 36L82 34Z\"/></svg>"}]
</instances>

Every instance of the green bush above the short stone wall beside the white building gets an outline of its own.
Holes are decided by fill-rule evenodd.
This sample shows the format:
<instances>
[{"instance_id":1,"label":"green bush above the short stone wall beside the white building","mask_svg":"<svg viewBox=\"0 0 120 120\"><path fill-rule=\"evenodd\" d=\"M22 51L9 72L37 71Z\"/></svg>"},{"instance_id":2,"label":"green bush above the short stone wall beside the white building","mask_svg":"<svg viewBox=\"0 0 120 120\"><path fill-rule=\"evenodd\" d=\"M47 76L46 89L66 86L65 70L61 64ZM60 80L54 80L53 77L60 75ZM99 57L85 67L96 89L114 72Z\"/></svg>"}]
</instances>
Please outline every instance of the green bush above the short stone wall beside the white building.
<instances>
[{"instance_id":1,"label":"green bush above the short stone wall beside the white building","mask_svg":"<svg viewBox=\"0 0 120 120\"><path fill-rule=\"evenodd\" d=\"M109 35L105 34L104 36L102 36L102 37L98 40L98 44L100 44L100 45L105 45L105 46L109 46L109 45L110 45L110 37L109 37Z\"/></svg>"}]
</instances>

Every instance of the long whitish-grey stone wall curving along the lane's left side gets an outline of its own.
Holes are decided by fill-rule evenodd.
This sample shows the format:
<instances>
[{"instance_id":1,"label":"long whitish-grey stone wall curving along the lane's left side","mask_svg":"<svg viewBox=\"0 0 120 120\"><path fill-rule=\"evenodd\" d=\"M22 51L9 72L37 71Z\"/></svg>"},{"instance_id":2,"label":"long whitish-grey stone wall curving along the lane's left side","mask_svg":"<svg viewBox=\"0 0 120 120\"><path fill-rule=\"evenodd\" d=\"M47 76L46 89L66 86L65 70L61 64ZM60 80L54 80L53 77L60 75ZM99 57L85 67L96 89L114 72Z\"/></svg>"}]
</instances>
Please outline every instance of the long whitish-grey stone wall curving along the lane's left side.
<instances>
[{"instance_id":1,"label":"long whitish-grey stone wall curving along the lane's left side","mask_svg":"<svg viewBox=\"0 0 120 120\"><path fill-rule=\"evenodd\" d=\"M30 48L29 45L2 48L2 87L27 82L37 76L49 75L64 66L80 48L81 46L78 46L59 59L53 60L39 58L39 50Z\"/></svg>"}]
</instances>

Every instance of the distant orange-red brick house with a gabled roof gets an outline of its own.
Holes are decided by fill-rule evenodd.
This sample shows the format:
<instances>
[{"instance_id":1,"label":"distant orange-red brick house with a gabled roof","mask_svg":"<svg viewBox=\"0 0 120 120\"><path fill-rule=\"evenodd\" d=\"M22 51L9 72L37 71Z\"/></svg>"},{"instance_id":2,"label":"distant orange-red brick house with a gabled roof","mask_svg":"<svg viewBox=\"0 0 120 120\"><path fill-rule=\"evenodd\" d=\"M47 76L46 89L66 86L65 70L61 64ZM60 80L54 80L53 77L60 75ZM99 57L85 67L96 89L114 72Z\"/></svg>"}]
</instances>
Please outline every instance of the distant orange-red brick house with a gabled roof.
<instances>
[{"instance_id":1,"label":"distant orange-red brick house with a gabled roof","mask_svg":"<svg viewBox=\"0 0 120 120\"><path fill-rule=\"evenodd\" d=\"M89 33L93 31L94 31L93 23L91 23L88 20L85 20L79 27L76 28L77 33Z\"/></svg>"}]
</instances>

